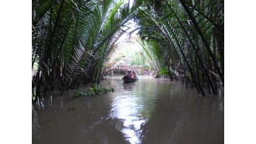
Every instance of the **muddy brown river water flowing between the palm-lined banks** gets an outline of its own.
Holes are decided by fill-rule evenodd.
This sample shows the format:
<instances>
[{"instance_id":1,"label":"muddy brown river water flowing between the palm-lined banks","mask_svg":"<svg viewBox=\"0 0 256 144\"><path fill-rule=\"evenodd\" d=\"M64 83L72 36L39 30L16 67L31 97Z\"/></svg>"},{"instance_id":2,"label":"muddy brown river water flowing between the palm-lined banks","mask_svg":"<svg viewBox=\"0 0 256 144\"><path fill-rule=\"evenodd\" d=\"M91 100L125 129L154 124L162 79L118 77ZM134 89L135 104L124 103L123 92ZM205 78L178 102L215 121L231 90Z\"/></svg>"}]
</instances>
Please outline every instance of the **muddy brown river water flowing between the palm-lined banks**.
<instances>
[{"instance_id":1,"label":"muddy brown river water flowing between the palm-lined banks","mask_svg":"<svg viewBox=\"0 0 256 144\"><path fill-rule=\"evenodd\" d=\"M51 91L33 104L33 143L224 143L224 98L202 97L177 81L140 77L102 81L115 92L73 98ZM85 91L82 87L79 91ZM70 105L74 109L68 110Z\"/></svg>"}]
</instances>

